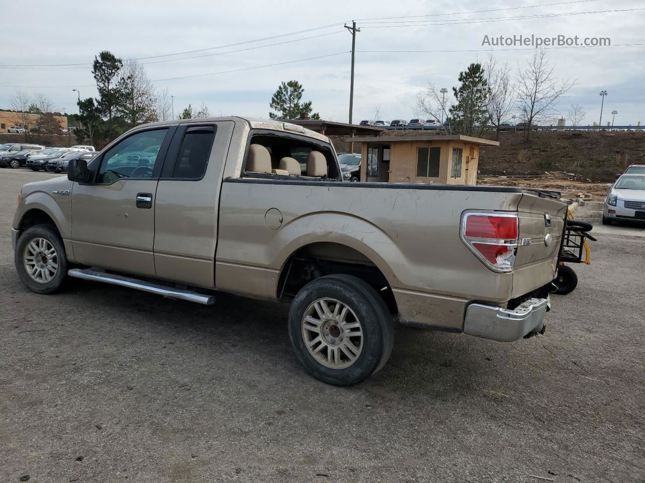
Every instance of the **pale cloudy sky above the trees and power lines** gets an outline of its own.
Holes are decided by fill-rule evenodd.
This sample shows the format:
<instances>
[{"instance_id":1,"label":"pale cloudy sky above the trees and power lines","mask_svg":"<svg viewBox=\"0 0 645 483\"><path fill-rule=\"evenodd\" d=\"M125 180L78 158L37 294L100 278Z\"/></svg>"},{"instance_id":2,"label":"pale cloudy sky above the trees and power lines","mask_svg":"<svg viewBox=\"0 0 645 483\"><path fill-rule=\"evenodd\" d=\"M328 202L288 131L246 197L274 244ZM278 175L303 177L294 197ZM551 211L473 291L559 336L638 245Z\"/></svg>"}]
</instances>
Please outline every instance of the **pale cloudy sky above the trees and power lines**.
<instances>
[{"instance_id":1,"label":"pale cloudy sky above the trees and power lines","mask_svg":"<svg viewBox=\"0 0 645 483\"><path fill-rule=\"evenodd\" d=\"M533 55L531 46L482 45L486 35L608 37L611 46L546 51L555 77L576 81L555 106L557 113L566 117L571 104L580 104L587 112L582 124L599 122L599 92L606 90L603 124L613 110L616 125L645 122L645 6L637 0L0 0L5 19L20 19L25 8L28 25L3 22L4 109L21 88L45 94L60 111L77 113L72 89L82 98L97 95L91 63L109 50L122 59L141 59L157 89L174 96L175 117L188 104L204 103L213 116L267 118L280 82L295 79L321 118L347 122L352 36L343 23L355 20L361 28L355 123L373 119L379 107L382 120L417 117L417 95L428 82L450 95L459 72L485 61L490 50L498 63L510 63L513 77Z\"/></svg>"}]
</instances>

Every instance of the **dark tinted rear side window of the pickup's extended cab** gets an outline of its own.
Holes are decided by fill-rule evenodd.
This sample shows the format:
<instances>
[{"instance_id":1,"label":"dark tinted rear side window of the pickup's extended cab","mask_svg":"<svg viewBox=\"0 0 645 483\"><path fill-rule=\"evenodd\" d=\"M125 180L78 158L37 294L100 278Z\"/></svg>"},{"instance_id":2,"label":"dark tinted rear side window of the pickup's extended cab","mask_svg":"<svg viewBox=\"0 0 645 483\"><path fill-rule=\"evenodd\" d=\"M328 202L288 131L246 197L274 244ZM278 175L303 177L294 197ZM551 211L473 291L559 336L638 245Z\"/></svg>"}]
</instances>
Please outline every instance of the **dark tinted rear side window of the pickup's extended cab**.
<instances>
[{"instance_id":1,"label":"dark tinted rear side window of the pickup's extended cab","mask_svg":"<svg viewBox=\"0 0 645 483\"><path fill-rule=\"evenodd\" d=\"M172 178L199 180L206 173L210 150L215 140L213 126L195 126L186 129L179 147Z\"/></svg>"}]
</instances>

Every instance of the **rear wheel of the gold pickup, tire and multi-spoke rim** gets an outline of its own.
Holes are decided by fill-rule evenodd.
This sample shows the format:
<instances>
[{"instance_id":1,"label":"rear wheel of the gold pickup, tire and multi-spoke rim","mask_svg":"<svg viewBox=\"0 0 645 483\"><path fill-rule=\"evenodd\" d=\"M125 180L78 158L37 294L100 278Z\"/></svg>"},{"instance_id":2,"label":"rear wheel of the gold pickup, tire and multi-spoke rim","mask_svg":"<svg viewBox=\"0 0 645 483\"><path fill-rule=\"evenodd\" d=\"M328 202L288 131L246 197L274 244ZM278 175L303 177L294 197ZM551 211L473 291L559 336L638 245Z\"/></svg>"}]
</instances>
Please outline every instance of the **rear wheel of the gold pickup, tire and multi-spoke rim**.
<instances>
[{"instance_id":1,"label":"rear wheel of the gold pickup, tire and multi-spoke rim","mask_svg":"<svg viewBox=\"0 0 645 483\"><path fill-rule=\"evenodd\" d=\"M358 384L392 354L392 316L365 281L337 274L305 285L289 310L289 337L305 370L337 386Z\"/></svg>"}]
</instances>

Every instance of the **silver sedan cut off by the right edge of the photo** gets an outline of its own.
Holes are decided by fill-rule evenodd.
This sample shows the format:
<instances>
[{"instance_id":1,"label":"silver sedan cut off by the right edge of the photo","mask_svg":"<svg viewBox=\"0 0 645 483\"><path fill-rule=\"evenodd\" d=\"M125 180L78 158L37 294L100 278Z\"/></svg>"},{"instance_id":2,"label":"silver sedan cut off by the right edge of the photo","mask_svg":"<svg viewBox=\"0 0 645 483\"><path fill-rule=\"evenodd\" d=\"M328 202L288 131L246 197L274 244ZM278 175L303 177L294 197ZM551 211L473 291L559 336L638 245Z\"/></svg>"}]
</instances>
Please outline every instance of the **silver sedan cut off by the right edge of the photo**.
<instances>
[{"instance_id":1,"label":"silver sedan cut off by the right edge of the photo","mask_svg":"<svg viewBox=\"0 0 645 483\"><path fill-rule=\"evenodd\" d=\"M611 185L604 200L602 224L645 222L645 175L625 174Z\"/></svg>"}]
</instances>

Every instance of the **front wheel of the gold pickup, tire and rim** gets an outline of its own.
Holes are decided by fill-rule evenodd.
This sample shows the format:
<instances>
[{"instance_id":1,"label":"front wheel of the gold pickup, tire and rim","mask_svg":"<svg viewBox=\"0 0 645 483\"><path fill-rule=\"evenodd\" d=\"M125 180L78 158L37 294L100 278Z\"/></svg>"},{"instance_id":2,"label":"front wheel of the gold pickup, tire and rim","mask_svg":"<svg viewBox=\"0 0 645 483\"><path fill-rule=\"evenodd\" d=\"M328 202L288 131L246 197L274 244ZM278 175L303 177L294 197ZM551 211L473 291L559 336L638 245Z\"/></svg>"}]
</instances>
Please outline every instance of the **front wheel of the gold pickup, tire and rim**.
<instances>
[{"instance_id":1,"label":"front wheel of the gold pickup, tire and rim","mask_svg":"<svg viewBox=\"0 0 645 483\"><path fill-rule=\"evenodd\" d=\"M39 294L59 290L67 274L63 240L48 225L35 225L20 235L14 261L23 283Z\"/></svg>"}]
</instances>

